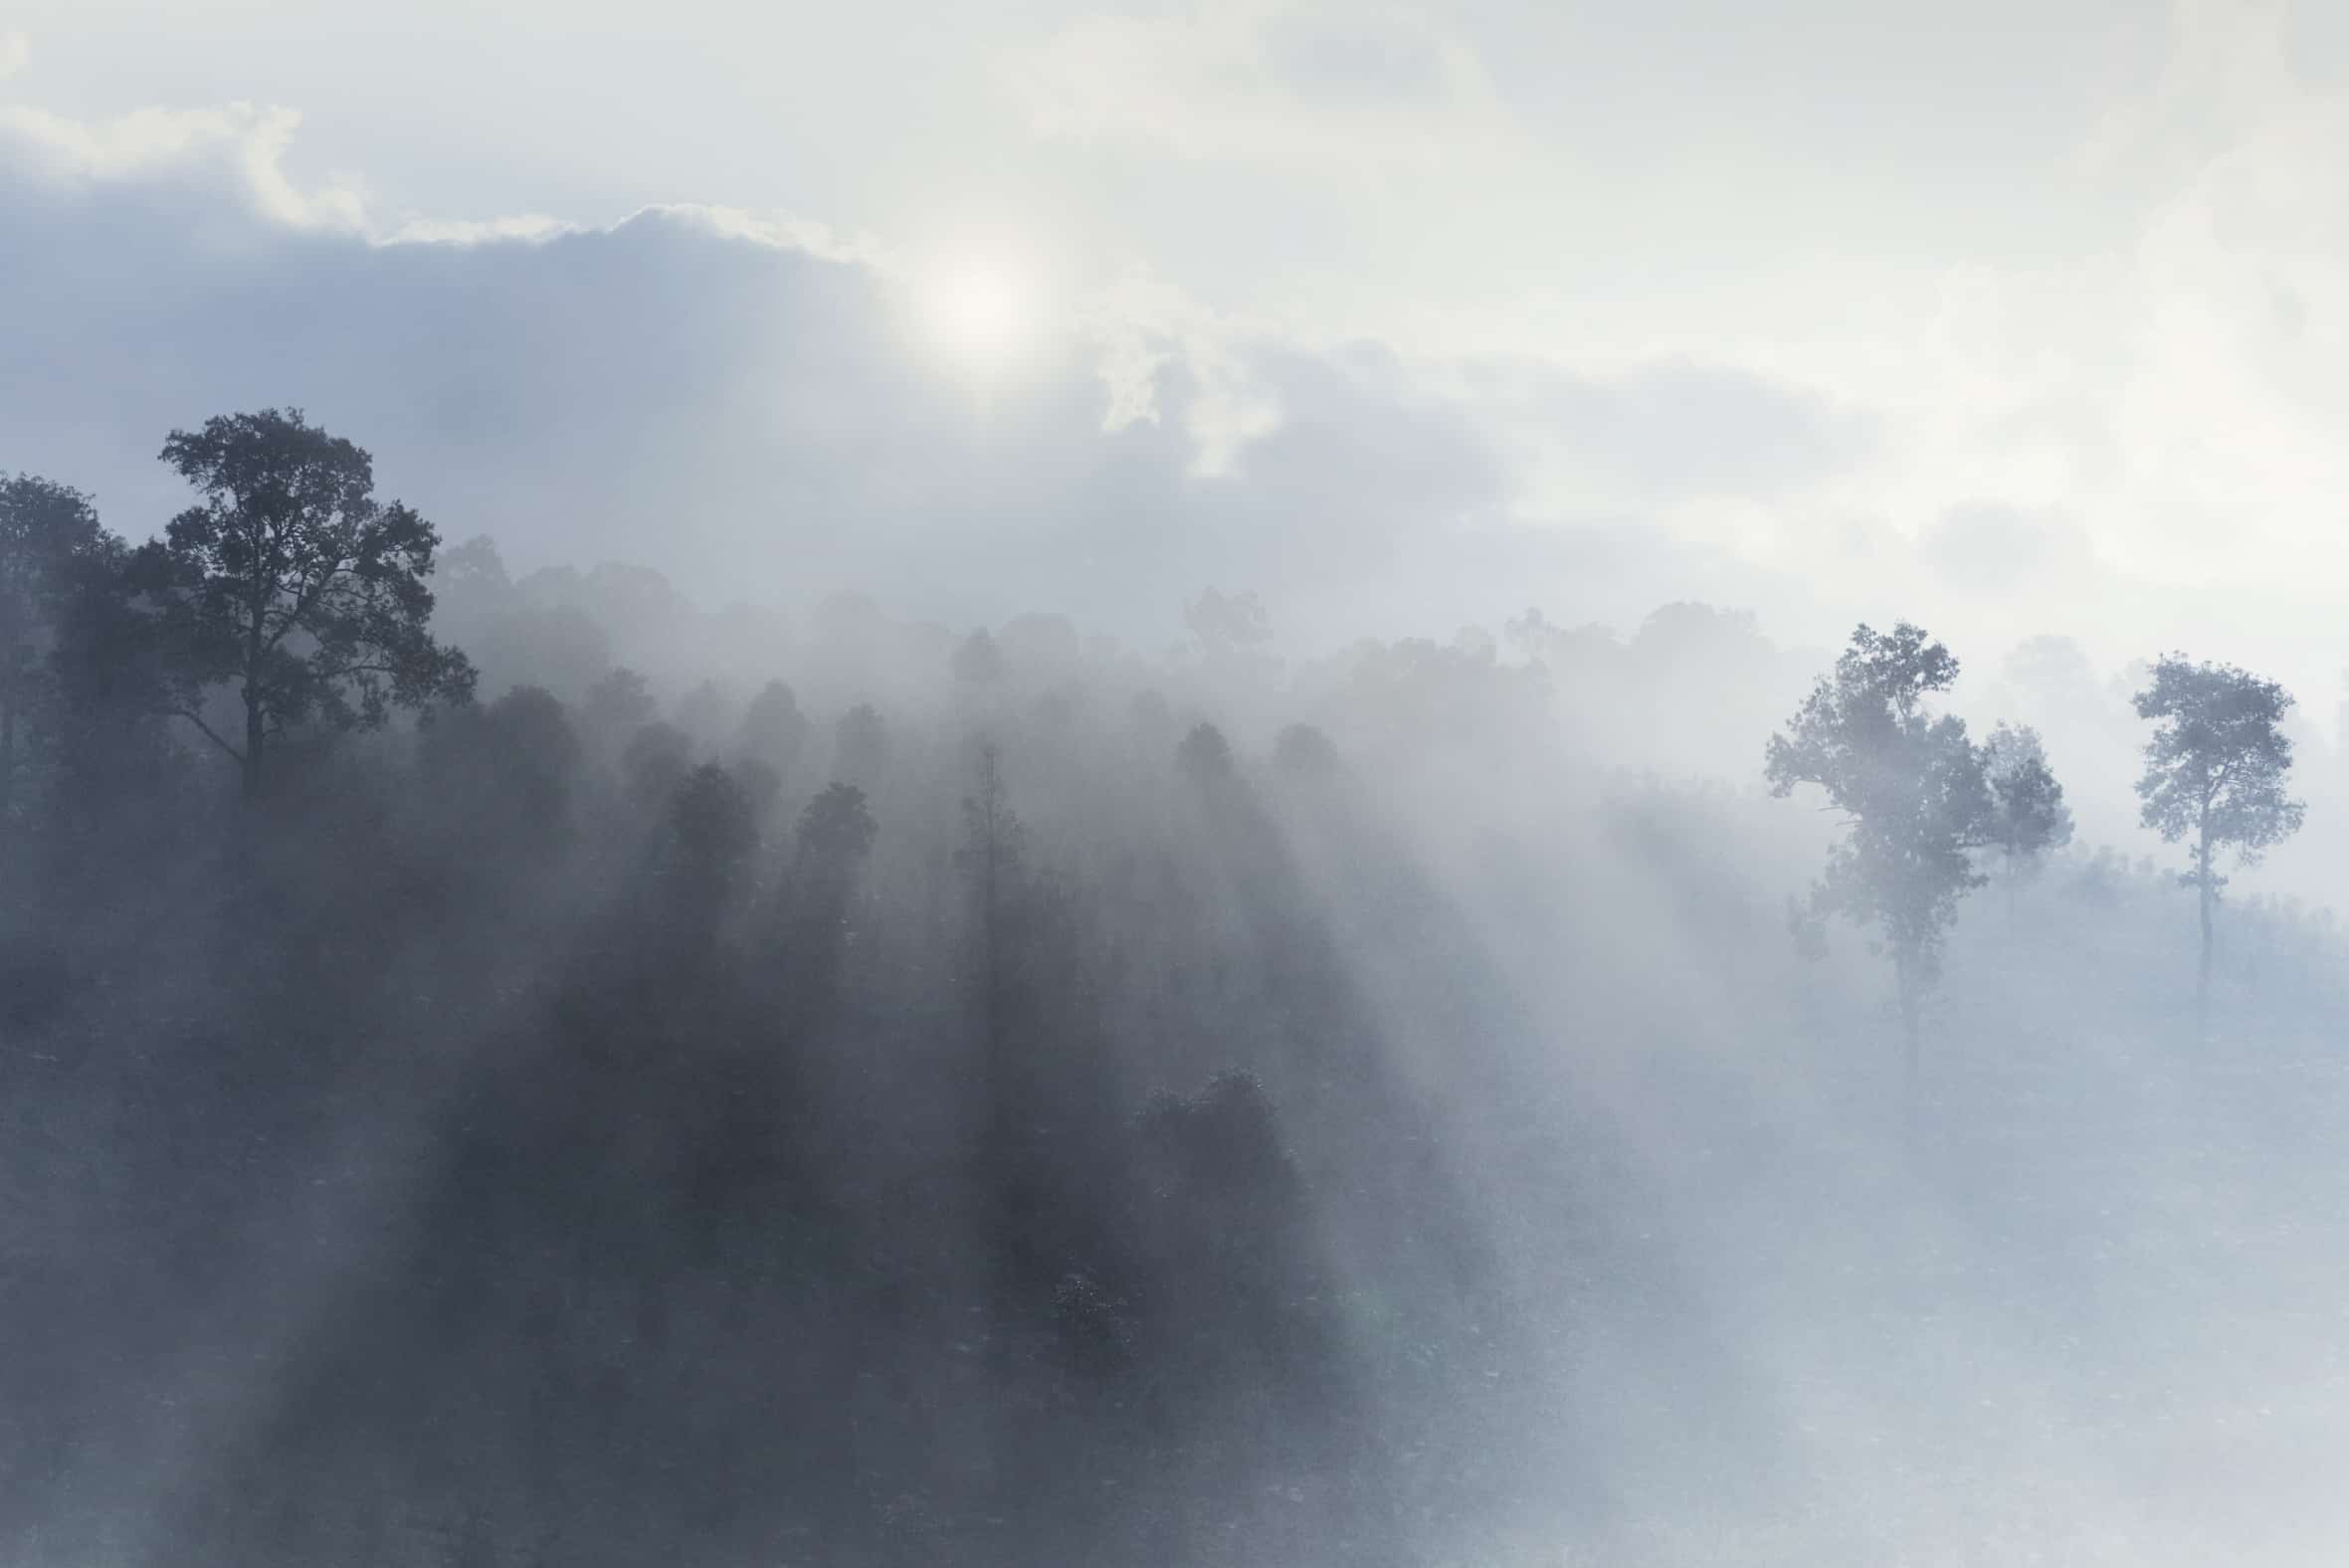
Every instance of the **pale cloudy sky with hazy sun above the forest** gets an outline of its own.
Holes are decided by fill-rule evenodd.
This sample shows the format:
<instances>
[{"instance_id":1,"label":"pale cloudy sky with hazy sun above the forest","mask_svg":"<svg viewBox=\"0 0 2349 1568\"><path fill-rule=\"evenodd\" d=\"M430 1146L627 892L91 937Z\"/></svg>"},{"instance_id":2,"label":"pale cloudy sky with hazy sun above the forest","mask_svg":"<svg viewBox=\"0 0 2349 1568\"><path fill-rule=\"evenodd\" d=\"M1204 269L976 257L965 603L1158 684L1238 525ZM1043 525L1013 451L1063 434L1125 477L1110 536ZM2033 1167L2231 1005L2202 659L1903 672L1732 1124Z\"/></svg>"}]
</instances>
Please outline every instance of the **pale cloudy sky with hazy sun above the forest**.
<instances>
[{"instance_id":1,"label":"pale cloudy sky with hazy sun above the forest","mask_svg":"<svg viewBox=\"0 0 2349 1568\"><path fill-rule=\"evenodd\" d=\"M9 0L0 467L517 566L2185 648L2330 721L2349 7Z\"/></svg>"}]
</instances>

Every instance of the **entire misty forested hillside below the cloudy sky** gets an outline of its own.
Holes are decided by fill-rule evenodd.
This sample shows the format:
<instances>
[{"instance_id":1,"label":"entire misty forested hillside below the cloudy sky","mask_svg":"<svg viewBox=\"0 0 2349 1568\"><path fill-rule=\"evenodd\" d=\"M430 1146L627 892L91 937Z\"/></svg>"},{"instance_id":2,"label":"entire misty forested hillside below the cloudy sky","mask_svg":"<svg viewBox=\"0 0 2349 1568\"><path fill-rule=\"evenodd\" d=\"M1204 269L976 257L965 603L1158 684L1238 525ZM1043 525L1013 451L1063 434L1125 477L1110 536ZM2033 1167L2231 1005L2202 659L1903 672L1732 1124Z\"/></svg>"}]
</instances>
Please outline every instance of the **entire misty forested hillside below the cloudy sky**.
<instances>
[{"instance_id":1,"label":"entire misty forested hillside below the cloudy sky","mask_svg":"<svg viewBox=\"0 0 2349 1568\"><path fill-rule=\"evenodd\" d=\"M2349 1530L2349 948L2260 880L2349 770L2257 671L702 608L298 411L162 462L0 474L7 1563Z\"/></svg>"}]
</instances>

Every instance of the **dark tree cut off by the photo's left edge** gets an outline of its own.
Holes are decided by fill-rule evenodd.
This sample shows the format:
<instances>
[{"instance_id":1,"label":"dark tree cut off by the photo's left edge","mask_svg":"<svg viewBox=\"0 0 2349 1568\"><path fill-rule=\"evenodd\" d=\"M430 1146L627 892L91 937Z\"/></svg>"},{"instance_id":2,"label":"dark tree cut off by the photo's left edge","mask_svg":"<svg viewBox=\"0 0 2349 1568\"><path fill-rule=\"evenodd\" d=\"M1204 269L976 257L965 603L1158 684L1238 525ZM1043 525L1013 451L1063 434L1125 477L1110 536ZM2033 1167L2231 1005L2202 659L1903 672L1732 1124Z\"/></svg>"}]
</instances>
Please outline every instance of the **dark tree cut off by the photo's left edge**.
<instances>
[{"instance_id":1,"label":"dark tree cut off by the photo's left edge","mask_svg":"<svg viewBox=\"0 0 2349 1568\"><path fill-rule=\"evenodd\" d=\"M49 655L68 606L113 540L80 491L0 479L0 824L16 800L16 737L49 690Z\"/></svg>"}]
</instances>

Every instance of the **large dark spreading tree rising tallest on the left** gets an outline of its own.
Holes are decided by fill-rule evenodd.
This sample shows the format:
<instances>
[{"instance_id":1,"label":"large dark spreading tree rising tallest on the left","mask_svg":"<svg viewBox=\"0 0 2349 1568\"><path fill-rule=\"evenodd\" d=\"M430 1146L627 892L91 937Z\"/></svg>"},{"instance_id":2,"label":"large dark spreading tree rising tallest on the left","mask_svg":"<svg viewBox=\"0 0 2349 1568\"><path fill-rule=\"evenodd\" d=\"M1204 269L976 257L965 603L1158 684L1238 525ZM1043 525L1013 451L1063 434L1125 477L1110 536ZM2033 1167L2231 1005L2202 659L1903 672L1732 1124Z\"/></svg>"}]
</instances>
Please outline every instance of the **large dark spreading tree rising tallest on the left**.
<instances>
[{"instance_id":1,"label":"large dark spreading tree rising tallest on the left","mask_svg":"<svg viewBox=\"0 0 2349 1568\"><path fill-rule=\"evenodd\" d=\"M430 631L439 533L376 500L362 448L263 408L174 430L162 460L202 495L148 554L171 707L235 758L247 798L294 725L376 728L392 707L472 697L472 664ZM237 688L242 744L204 716L218 685Z\"/></svg>"}]
</instances>

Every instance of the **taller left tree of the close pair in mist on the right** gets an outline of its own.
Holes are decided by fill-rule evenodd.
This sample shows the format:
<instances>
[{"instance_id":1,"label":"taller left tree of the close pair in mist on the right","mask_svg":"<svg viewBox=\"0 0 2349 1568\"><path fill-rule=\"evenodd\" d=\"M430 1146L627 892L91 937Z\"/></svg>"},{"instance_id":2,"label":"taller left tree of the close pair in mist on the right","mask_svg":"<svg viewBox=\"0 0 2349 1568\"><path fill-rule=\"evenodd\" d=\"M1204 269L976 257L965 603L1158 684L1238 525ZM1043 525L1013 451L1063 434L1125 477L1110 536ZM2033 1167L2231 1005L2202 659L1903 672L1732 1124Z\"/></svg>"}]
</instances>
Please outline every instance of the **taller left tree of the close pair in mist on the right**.
<instances>
[{"instance_id":1,"label":"taller left tree of the close pair in mist on the right","mask_svg":"<svg viewBox=\"0 0 2349 1568\"><path fill-rule=\"evenodd\" d=\"M1818 678L1783 735L1769 739L1773 796L1811 784L1844 819L1809 918L1872 925L1893 960L1907 1077L1917 1082L1917 1021L1940 976L1957 904L1983 876L1973 850L1990 843L1992 793L1966 721L1926 707L1957 681L1957 655L1900 622L1858 627L1835 671Z\"/></svg>"}]
</instances>

